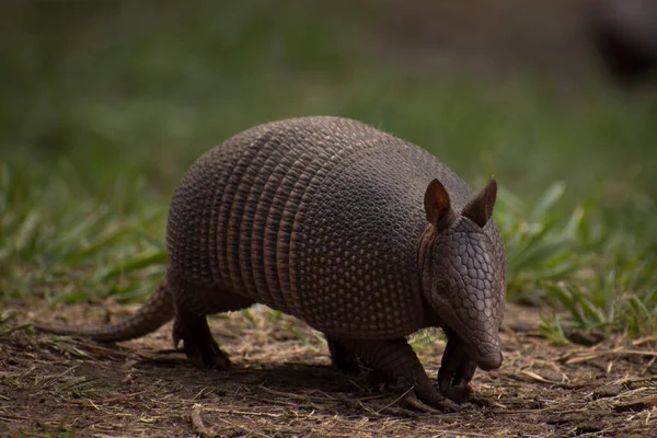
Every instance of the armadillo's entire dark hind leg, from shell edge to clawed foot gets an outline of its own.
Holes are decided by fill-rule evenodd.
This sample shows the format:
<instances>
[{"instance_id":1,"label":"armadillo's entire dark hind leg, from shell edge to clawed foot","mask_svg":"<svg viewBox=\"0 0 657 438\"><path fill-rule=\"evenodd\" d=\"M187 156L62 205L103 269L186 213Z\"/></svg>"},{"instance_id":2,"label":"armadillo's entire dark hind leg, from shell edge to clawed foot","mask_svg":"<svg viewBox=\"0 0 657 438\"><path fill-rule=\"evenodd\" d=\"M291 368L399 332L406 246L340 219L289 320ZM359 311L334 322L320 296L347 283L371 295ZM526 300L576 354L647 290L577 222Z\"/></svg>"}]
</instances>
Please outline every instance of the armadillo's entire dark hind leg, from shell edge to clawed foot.
<instances>
[{"instance_id":1,"label":"armadillo's entire dark hind leg, from shell edge to clawed foot","mask_svg":"<svg viewBox=\"0 0 657 438\"><path fill-rule=\"evenodd\" d=\"M212 337L206 315L244 309L251 307L253 300L222 288L192 285L172 275L169 285L175 301L174 347L182 341L185 355L194 364L230 368L230 359Z\"/></svg>"}]
</instances>

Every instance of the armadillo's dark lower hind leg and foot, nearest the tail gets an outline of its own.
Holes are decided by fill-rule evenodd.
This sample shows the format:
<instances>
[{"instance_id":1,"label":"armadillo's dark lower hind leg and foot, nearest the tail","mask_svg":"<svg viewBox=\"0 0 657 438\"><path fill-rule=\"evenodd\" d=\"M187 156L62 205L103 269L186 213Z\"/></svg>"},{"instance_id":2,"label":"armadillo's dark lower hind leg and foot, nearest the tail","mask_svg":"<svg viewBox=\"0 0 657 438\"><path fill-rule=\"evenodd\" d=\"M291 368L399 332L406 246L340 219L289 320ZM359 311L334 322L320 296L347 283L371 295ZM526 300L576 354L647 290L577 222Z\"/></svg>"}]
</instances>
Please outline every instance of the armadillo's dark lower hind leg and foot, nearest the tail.
<instances>
[{"instance_id":1,"label":"armadillo's dark lower hind leg and foot, nearest the tail","mask_svg":"<svg viewBox=\"0 0 657 438\"><path fill-rule=\"evenodd\" d=\"M215 342L205 316L192 319L176 315L173 325L174 348L177 348L181 341L185 355L192 362L217 369L230 368L230 359Z\"/></svg>"}]
</instances>

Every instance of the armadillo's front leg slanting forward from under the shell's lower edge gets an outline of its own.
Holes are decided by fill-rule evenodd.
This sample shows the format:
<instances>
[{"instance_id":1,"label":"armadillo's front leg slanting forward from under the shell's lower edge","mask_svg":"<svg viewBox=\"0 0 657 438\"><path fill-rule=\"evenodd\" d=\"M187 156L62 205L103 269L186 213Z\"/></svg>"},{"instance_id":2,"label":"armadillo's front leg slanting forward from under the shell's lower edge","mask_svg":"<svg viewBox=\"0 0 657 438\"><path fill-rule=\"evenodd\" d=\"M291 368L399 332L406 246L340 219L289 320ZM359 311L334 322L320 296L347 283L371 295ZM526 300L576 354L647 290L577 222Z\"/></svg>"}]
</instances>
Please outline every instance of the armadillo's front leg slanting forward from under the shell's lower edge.
<instances>
[{"instance_id":1,"label":"armadillo's front leg slanting forward from under the shell's lower edge","mask_svg":"<svg viewBox=\"0 0 657 438\"><path fill-rule=\"evenodd\" d=\"M417 397L423 402L436 407L447 406L445 397L434 388L406 339L343 339L342 343L356 356L367 361L372 369L397 382L402 388L413 387Z\"/></svg>"}]
</instances>

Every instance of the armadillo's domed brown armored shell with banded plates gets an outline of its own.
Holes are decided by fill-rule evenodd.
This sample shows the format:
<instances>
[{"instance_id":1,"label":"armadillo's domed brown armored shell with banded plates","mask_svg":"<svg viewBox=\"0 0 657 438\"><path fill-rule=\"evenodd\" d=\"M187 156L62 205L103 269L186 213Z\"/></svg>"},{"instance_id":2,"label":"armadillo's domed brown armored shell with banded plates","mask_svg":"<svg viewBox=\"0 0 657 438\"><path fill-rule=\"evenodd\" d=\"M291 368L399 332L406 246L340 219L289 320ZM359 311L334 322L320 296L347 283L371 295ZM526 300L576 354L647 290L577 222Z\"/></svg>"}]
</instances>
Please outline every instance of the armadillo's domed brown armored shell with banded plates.
<instances>
[{"instance_id":1,"label":"armadillo's domed brown armored shell with banded plates","mask_svg":"<svg viewBox=\"0 0 657 438\"><path fill-rule=\"evenodd\" d=\"M327 334L407 335L423 321L417 242L436 177L457 208L471 198L431 154L361 123L257 126L184 176L169 216L170 272ZM486 230L502 247L494 224Z\"/></svg>"}]
</instances>

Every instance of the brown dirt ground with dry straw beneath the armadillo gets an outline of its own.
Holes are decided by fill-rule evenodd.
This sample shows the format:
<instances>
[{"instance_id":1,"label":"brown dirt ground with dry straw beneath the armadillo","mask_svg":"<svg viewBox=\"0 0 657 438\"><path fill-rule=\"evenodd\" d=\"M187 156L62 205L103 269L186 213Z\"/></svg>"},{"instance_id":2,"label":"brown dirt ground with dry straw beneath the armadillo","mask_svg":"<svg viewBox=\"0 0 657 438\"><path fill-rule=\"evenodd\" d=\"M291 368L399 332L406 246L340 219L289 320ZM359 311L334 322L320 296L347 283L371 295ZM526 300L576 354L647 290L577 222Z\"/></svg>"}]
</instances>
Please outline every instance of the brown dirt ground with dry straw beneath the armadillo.
<instances>
[{"instance_id":1,"label":"brown dirt ground with dry straw beneath the armadillo","mask_svg":"<svg viewBox=\"0 0 657 438\"><path fill-rule=\"evenodd\" d=\"M554 346L538 333L538 312L515 306L503 368L477 371L474 403L454 413L424 412L333 369L316 332L266 309L211 320L231 371L187 362L171 347L171 324L118 346L24 325L95 324L135 307L15 309L0 324L2 437L647 437L657 427L657 336ZM427 339L417 345L435 378L445 343Z\"/></svg>"}]
</instances>

